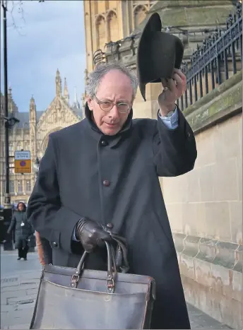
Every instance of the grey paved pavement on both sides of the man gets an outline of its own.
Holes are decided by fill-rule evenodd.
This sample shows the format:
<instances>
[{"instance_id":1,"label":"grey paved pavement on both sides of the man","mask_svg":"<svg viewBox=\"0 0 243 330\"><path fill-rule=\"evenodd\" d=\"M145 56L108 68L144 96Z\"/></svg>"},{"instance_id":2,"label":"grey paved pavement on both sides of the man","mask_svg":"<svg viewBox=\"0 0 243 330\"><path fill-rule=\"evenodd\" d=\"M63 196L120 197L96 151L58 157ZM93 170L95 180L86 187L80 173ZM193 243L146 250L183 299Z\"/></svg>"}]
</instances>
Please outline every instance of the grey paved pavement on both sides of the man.
<instances>
[{"instance_id":1,"label":"grey paved pavement on both sides of the man","mask_svg":"<svg viewBox=\"0 0 243 330\"><path fill-rule=\"evenodd\" d=\"M1 329L29 329L40 281L37 253L17 260L17 252L1 247ZM231 329L188 304L191 329Z\"/></svg>"}]
</instances>

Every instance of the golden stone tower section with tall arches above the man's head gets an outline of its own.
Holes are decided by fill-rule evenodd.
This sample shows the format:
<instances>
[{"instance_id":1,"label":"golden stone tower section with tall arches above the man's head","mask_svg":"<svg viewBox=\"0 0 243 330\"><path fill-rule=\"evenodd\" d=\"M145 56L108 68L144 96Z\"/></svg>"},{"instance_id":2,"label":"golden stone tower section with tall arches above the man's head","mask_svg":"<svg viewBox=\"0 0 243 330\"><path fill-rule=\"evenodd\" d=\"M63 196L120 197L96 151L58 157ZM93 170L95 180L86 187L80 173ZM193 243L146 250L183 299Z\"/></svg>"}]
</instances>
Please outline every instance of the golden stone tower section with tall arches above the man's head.
<instances>
[{"instance_id":1,"label":"golden stone tower section with tall arches above the man's head","mask_svg":"<svg viewBox=\"0 0 243 330\"><path fill-rule=\"evenodd\" d=\"M87 73L93 70L93 54L105 52L109 42L130 35L146 18L155 0L84 0Z\"/></svg>"}]
</instances>

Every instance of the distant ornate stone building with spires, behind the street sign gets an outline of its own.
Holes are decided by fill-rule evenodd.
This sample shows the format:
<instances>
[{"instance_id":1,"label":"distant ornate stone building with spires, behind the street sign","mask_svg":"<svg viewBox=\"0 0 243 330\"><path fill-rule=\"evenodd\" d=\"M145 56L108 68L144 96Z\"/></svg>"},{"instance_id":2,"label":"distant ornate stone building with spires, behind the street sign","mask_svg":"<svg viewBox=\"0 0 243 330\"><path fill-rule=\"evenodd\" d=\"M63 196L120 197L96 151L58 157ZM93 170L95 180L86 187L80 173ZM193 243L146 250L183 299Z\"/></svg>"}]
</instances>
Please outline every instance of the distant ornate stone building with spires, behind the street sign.
<instances>
[{"instance_id":1,"label":"distant ornate stone building with spires, behind the street sign","mask_svg":"<svg viewBox=\"0 0 243 330\"><path fill-rule=\"evenodd\" d=\"M9 190L11 202L24 201L28 203L30 193L35 183L35 160L41 160L47 147L50 133L75 124L83 119L83 111L78 102L76 93L74 102L70 104L69 91L64 79L64 91L62 93L61 76L57 70L56 95L45 111L37 111L35 99L30 99L28 112L19 112L13 100L12 90L8 89L8 112L18 118L20 122L9 130L9 162L10 181ZM1 93L1 151L0 151L0 178L1 201L4 204L5 193L5 153L4 153L4 95ZM32 173L16 174L14 170L14 151L30 151L32 161Z\"/></svg>"}]
</instances>

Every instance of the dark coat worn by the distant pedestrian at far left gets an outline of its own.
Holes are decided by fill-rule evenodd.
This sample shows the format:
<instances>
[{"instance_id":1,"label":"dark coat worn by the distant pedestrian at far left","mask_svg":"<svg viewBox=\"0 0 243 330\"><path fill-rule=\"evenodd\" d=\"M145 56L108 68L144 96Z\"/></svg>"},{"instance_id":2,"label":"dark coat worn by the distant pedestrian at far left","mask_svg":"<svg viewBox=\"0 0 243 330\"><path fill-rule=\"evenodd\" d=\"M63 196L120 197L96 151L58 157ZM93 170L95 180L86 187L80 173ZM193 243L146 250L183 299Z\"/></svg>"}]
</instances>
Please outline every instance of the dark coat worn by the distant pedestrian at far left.
<instances>
[{"instance_id":1,"label":"dark coat worn by the distant pedestrian at far left","mask_svg":"<svg viewBox=\"0 0 243 330\"><path fill-rule=\"evenodd\" d=\"M21 223L24 225L21 226ZM32 225L28 223L27 213L25 211L14 211L11 219L11 223L8 228L8 232L15 230L15 248L26 247L27 240L30 235L35 232Z\"/></svg>"}]
</instances>

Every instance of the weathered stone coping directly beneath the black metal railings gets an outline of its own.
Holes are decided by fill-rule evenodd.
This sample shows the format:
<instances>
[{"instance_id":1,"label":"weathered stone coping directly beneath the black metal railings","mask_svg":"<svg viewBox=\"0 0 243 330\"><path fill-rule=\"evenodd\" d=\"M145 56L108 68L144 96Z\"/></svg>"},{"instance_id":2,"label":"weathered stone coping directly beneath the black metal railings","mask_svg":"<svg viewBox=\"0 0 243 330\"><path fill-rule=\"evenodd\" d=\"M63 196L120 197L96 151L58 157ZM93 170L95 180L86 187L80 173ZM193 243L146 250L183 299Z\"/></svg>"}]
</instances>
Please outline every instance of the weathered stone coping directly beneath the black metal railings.
<instances>
[{"instance_id":1,"label":"weathered stone coping directly beneath the black metal railings","mask_svg":"<svg viewBox=\"0 0 243 330\"><path fill-rule=\"evenodd\" d=\"M194 134L242 112L242 71L184 110Z\"/></svg>"}]
</instances>

